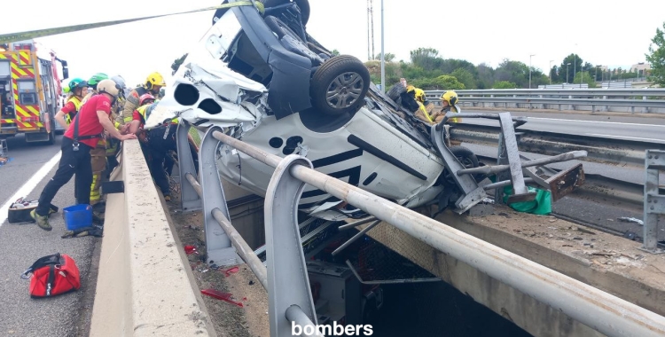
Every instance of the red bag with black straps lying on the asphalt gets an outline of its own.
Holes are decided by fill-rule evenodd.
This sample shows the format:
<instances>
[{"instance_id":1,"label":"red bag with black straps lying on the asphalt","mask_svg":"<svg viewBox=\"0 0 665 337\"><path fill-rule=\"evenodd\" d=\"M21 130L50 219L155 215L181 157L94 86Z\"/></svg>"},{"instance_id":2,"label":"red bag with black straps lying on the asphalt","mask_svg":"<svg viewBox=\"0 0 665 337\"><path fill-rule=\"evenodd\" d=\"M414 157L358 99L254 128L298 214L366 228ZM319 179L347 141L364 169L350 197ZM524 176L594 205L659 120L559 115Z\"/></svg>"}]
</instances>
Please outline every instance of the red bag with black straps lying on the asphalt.
<instances>
[{"instance_id":1,"label":"red bag with black straps lying on the asphalt","mask_svg":"<svg viewBox=\"0 0 665 337\"><path fill-rule=\"evenodd\" d=\"M30 278L30 297L51 297L65 294L81 287L79 269L69 255L48 255L35 261L21 278Z\"/></svg>"}]
</instances>

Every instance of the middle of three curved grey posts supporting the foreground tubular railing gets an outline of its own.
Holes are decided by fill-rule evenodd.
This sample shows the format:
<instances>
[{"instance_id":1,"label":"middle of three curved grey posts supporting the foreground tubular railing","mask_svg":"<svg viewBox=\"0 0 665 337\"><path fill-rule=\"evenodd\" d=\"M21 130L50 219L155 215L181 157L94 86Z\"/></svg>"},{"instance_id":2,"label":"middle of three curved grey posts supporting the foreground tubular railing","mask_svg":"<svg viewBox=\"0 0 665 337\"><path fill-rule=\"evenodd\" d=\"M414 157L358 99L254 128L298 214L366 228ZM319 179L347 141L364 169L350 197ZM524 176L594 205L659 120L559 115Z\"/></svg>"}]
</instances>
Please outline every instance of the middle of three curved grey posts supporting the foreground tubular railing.
<instances>
[{"instance_id":1,"label":"middle of three curved grey posts supporting the foreground tubular railing","mask_svg":"<svg viewBox=\"0 0 665 337\"><path fill-rule=\"evenodd\" d=\"M213 216L213 209L219 208L227 219L231 219L215 162L215 153L219 145L219 141L213 137L215 131L221 132L222 129L219 127L208 129L199 149L200 184L201 192L203 192L201 199L206 231L206 261L218 266L228 266L239 264L240 258L236 254L236 249L231 246L231 239Z\"/></svg>"}]
</instances>

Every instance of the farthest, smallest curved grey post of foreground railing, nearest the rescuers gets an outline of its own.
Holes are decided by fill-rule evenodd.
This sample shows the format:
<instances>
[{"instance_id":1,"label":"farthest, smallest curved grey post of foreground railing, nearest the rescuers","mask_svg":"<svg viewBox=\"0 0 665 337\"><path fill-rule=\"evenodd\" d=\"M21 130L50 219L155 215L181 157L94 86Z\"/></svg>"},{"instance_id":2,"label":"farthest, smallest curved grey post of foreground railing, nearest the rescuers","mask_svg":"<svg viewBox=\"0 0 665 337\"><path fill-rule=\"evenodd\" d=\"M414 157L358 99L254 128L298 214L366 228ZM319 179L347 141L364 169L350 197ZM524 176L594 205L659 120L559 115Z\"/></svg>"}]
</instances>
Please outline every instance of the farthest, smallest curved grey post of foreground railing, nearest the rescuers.
<instances>
[{"instance_id":1,"label":"farthest, smallest curved grey post of foreground railing, nearest the rescuers","mask_svg":"<svg viewBox=\"0 0 665 337\"><path fill-rule=\"evenodd\" d=\"M184 211L195 211L201 209L201 199L199 194L194 191L192 184L187 183L185 177L187 173L193 176L199 176L192 159L192 150L190 149L187 135L190 130L190 123L181 119L176 131L176 142L178 150L178 170L180 171L180 208ZM200 161L200 159L199 159Z\"/></svg>"}]
</instances>

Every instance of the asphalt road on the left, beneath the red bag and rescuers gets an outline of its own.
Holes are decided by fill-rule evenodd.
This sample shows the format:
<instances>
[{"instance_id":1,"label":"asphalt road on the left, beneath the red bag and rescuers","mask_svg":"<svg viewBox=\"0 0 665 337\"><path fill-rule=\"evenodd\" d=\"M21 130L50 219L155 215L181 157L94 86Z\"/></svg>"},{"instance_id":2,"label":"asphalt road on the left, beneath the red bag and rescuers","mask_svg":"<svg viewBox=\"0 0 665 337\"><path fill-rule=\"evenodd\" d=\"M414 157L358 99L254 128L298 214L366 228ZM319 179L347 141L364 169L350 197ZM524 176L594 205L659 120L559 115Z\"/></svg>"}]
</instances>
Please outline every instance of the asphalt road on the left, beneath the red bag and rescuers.
<instances>
[{"instance_id":1,"label":"asphalt road on the left, beneath the red bag and rescuers","mask_svg":"<svg viewBox=\"0 0 665 337\"><path fill-rule=\"evenodd\" d=\"M27 145L23 137L8 139L12 161L0 167L0 206L59 153L60 139L58 137L56 145ZM56 169L57 165L48 170L43 179L36 182L35 188L26 193L29 200L39 198ZM74 204L74 179L59 191L53 204L60 209ZM61 211L51 216L53 231L43 231L34 223L7 223L5 217L6 214L0 214L0 256L3 256L0 270L4 271L0 276L0 335L87 335L97 282L93 265L97 264L100 239L60 239L65 231ZM30 281L21 279L20 274L36 259L55 253L74 258L81 271L81 290L49 299L31 299L28 293Z\"/></svg>"}]
</instances>

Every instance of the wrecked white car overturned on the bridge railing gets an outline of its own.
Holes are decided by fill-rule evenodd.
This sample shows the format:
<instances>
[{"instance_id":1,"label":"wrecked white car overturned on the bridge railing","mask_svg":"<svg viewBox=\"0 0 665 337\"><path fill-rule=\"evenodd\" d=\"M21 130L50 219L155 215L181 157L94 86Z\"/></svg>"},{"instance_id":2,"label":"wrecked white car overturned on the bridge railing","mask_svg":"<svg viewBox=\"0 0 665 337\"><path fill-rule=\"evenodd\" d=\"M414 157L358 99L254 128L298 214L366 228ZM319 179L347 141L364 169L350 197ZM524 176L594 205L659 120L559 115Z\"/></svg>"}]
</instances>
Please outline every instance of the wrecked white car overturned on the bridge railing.
<instances>
[{"instance_id":1,"label":"wrecked white car overturned on the bridge railing","mask_svg":"<svg viewBox=\"0 0 665 337\"><path fill-rule=\"evenodd\" d=\"M478 166L473 153L447 146L442 125L419 121L370 82L359 59L332 56L307 33L307 0L265 5L263 12L244 5L215 13L146 128L176 116L199 129L220 126L267 153L305 156L315 169L408 208L436 200L463 212L485 197L481 176L453 174ZM228 145L220 154L224 179L265 195L270 167ZM328 220L364 216L311 187L300 209Z\"/></svg>"}]
</instances>

